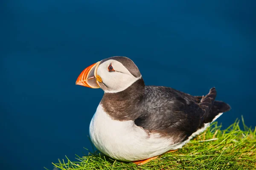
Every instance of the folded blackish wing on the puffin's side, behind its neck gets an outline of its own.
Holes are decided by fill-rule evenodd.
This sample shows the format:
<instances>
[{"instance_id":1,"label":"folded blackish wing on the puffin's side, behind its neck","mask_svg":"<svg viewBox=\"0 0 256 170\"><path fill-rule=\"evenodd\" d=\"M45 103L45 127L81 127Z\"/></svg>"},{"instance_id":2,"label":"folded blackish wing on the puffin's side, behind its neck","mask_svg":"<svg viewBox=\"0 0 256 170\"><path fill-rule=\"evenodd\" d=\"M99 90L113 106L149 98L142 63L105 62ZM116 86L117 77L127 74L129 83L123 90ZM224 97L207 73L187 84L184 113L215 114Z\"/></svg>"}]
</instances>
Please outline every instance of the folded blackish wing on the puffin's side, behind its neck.
<instances>
[{"instance_id":1,"label":"folded blackish wing on the puffin's side, behind its neck","mask_svg":"<svg viewBox=\"0 0 256 170\"><path fill-rule=\"evenodd\" d=\"M215 96L215 88L200 100L173 88L145 86L145 112L135 124L162 135L176 136L176 142L184 141L204 125Z\"/></svg>"}]
</instances>

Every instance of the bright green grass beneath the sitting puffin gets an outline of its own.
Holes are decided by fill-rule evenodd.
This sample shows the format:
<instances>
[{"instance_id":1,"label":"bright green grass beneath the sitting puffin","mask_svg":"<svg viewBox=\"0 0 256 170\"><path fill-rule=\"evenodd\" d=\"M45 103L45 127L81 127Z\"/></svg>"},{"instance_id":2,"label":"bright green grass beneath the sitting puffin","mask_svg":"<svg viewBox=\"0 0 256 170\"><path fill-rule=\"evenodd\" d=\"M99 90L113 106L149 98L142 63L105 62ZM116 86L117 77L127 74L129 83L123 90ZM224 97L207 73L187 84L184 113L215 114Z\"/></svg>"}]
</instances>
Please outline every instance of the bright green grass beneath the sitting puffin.
<instances>
[{"instance_id":1,"label":"bright green grass beneath the sitting puffin","mask_svg":"<svg viewBox=\"0 0 256 170\"><path fill-rule=\"evenodd\" d=\"M239 120L225 130L215 122L177 152L142 166L116 161L100 153L76 159L52 164L61 170L256 170L256 128L244 125L243 117L242 128Z\"/></svg>"}]
</instances>

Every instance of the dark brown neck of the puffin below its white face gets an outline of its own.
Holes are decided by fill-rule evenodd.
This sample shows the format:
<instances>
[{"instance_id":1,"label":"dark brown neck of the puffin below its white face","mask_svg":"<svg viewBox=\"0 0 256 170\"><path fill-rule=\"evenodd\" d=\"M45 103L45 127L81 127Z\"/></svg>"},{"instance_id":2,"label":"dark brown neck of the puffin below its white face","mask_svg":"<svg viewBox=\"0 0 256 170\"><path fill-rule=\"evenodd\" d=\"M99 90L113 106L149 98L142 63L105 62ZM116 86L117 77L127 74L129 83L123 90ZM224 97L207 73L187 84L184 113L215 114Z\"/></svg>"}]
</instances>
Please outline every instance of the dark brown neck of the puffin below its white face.
<instances>
[{"instance_id":1,"label":"dark brown neck of the puffin below its white face","mask_svg":"<svg viewBox=\"0 0 256 170\"><path fill-rule=\"evenodd\" d=\"M144 95L145 83L140 78L124 91L105 93L101 104L112 119L135 120L140 116L140 105Z\"/></svg>"}]
</instances>

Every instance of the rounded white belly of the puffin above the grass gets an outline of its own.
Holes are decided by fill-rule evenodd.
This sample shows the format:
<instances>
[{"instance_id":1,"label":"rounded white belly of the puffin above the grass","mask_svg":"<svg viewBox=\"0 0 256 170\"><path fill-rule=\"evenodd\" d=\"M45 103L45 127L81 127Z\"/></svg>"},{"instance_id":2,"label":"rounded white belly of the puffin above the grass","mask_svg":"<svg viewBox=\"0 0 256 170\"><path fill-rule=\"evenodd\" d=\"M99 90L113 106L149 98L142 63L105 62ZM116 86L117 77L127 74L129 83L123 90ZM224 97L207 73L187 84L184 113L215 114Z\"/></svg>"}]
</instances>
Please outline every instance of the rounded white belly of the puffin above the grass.
<instances>
[{"instance_id":1,"label":"rounded white belly of the puffin above the grass","mask_svg":"<svg viewBox=\"0 0 256 170\"><path fill-rule=\"evenodd\" d=\"M137 161L158 156L182 147L170 137L158 133L146 133L134 121L117 121L105 113L99 105L90 122L90 138L98 150L121 161Z\"/></svg>"}]
</instances>

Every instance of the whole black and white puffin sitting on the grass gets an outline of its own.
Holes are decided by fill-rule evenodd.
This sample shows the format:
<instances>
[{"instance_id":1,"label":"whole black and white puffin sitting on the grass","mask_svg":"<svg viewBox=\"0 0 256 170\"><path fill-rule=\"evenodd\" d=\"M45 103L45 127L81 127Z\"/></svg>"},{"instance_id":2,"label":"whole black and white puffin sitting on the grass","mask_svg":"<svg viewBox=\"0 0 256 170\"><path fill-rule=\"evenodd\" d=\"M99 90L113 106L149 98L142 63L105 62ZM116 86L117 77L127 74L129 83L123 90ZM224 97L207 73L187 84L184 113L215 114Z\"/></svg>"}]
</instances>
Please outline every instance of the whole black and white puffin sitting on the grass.
<instances>
[{"instance_id":1,"label":"whole black and white puffin sitting on the grass","mask_svg":"<svg viewBox=\"0 0 256 170\"><path fill-rule=\"evenodd\" d=\"M192 96L169 87L145 85L128 57L109 57L85 68L76 85L104 95L90 122L90 139L105 155L143 165L183 147L230 105L216 101L216 89Z\"/></svg>"}]
</instances>

